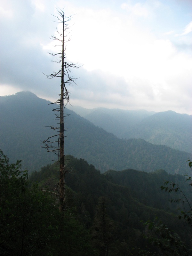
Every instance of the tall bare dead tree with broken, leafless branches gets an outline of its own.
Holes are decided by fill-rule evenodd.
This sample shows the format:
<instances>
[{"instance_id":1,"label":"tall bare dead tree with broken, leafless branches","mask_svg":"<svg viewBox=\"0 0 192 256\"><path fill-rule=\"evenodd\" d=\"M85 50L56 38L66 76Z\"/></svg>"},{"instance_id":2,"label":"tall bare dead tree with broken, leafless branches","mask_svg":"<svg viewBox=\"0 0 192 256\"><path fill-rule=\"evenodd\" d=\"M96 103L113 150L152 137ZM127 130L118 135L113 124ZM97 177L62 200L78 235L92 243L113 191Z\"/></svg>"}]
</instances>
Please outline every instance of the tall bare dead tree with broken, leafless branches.
<instances>
[{"instance_id":1,"label":"tall bare dead tree with broken, leafless branches","mask_svg":"<svg viewBox=\"0 0 192 256\"><path fill-rule=\"evenodd\" d=\"M53 108L55 112L56 120L59 120L59 127L51 126L51 129L59 132L59 134L55 134L44 140L44 148L47 149L48 152L54 152L58 156L58 162L60 164L60 180L59 180L59 189L58 196L59 196L59 211L64 212L65 210L65 174L68 172L65 166L65 154L64 154L64 117L68 116L64 114L64 108L69 102L69 91L67 86L70 84L75 83L75 78L71 76L71 69L72 68L79 68L80 65L71 63L66 60L66 42L69 41L67 37L67 29L68 29L68 21L71 20L70 17L66 17L64 13L64 9L56 9L58 14L57 16L53 15L57 20L55 22L60 23L59 28L57 28L57 35L51 36L52 40L56 40L59 42L57 47L60 47L58 53L50 53L52 56L59 57L58 60L54 61L61 64L61 68L58 72L54 72L51 75L46 75L47 78L55 78L59 77L61 79L60 84L60 99L56 102L50 104L57 104L59 105L58 108ZM60 27L61 25L61 27ZM64 116L65 115L65 116ZM56 139L55 139L56 138ZM53 140L53 141L52 141ZM56 143L56 144L55 144Z\"/></svg>"}]
</instances>

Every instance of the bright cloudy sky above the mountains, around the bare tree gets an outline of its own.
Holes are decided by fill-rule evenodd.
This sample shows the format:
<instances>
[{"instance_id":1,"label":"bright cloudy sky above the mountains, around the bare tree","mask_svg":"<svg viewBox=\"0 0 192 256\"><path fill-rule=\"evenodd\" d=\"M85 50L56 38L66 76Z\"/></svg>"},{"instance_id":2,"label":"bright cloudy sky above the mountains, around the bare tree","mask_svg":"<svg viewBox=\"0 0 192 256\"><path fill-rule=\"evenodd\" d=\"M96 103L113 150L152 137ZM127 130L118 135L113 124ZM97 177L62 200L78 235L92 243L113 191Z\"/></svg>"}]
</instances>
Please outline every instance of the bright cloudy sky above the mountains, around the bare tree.
<instances>
[{"instance_id":1,"label":"bright cloudy sky above the mountains, around the bare tree","mask_svg":"<svg viewBox=\"0 0 192 256\"><path fill-rule=\"evenodd\" d=\"M31 91L55 102L57 52L64 8L70 104L84 108L173 110L192 114L191 0L0 0L0 95ZM68 38L69 38L68 37Z\"/></svg>"}]
</instances>

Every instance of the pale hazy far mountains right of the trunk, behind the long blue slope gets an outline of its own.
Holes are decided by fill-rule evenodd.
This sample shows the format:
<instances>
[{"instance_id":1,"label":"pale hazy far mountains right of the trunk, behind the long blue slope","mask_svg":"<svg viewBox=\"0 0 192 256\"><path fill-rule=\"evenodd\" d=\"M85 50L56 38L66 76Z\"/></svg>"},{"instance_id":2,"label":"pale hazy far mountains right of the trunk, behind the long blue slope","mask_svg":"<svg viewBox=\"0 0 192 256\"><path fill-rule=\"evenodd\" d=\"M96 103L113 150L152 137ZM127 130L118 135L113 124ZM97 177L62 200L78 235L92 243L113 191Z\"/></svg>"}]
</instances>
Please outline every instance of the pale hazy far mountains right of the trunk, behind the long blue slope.
<instances>
[{"instance_id":1,"label":"pale hazy far mountains right of the trunk, behind the long blue slope","mask_svg":"<svg viewBox=\"0 0 192 256\"><path fill-rule=\"evenodd\" d=\"M70 109L118 138L140 138L192 153L192 115L76 106Z\"/></svg>"}]
</instances>

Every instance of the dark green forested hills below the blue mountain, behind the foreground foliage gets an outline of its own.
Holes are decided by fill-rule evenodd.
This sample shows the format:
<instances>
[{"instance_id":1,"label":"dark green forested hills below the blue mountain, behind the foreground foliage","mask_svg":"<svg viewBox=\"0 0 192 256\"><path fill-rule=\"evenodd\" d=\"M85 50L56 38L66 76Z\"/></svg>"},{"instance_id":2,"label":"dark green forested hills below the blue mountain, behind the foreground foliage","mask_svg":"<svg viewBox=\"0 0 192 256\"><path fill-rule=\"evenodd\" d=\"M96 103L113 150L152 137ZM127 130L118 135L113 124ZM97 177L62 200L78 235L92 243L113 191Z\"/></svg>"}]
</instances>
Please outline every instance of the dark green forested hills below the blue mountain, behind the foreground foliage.
<instances>
[{"instance_id":1,"label":"dark green forested hills below the blue mountain, behind the foreground foliage","mask_svg":"<svg viewBox=\"0 0 192 256\"><path fill-rule=\"evenodd\" d=\"M179 182L185 196L190 199L191 188L183 176L171 175L163 170L153 173L136 170L108 171L100 174L84 159L76 159L73 156L66 156L66 159L69 170L66 175L68 207L76 206L79 220L91 230L92 243L97 249L102 248L102 243L105 243L106 246L108 244L108 255L139 255L141 250L149 246L148 250L155 250L156 255L159 255L156 247L151 246L143 237L147 229L141 222L153 221L156 217L166 224L167 228L176 231L180 240L188 243L191 231L186 234L187 226L184 228L185 223L176 217L179 213L178 207L182 209L183 204L169 201L172 198L182 199L182 195L166 193L160 188L166 179ZM57 173L56 166L45 166L40 172L31 175L30 182L38 181L41 187L52 190L57 186ZM102 214L105 214L106 221L106 233L103 235L100 233ZM168 238L164 238L163 242L165 251L175 249L174 243L166 239Z\"/></svg>"}]
</instances>

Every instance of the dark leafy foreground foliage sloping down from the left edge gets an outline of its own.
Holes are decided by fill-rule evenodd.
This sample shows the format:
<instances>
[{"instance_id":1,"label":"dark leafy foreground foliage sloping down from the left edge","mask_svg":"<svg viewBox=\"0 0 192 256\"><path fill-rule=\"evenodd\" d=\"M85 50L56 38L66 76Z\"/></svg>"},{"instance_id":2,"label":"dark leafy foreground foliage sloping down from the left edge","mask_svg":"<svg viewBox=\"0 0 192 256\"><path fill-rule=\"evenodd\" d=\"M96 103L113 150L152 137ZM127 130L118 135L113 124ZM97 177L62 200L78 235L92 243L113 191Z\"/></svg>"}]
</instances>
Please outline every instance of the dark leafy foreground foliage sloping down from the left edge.
<instances>
[{"instance_id":1,"label":"dark leafy foreground foliage sloping down from the left edge","mask_svg":"<svg viewBox=\"0 0 192 256\"><path fill-rule=\"evenodd\" d=\"M88 231L73 209L65 220L38 184L29 186L20 161L9 164L0 151L0 255L91 255Z\"/></svg>"}]
</instances>

